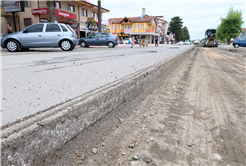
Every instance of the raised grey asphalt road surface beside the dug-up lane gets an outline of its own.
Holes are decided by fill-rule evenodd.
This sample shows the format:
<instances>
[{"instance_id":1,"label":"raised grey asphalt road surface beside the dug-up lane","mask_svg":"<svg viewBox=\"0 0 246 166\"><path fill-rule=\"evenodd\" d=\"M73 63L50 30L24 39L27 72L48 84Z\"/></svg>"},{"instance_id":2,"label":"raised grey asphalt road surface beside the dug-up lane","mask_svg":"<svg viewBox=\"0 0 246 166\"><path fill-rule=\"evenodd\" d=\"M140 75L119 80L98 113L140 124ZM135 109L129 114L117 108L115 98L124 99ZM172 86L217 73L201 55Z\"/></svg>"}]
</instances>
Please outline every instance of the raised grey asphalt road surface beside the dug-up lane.
<instances>
[{"instance_id":1,"label":"raised grey asphalt road surface beside the dug-up lane","mask_svg":"<svg viewBox=\"0 0 246 166\"><path fill-rule=\"evenodd\" d=\"M193 46L1 49L1 126L69 101Z\"/></svg>"}]
</instances>

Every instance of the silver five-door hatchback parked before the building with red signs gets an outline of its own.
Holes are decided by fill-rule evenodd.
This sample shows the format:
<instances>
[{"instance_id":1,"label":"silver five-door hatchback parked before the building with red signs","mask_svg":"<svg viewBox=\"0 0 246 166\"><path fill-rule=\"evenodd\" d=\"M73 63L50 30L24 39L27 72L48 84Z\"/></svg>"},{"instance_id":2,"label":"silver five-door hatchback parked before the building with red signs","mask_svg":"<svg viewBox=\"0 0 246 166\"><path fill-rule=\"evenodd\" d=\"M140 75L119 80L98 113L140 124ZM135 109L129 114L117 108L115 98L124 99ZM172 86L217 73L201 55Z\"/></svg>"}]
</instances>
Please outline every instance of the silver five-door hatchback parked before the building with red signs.
<instances>
[{"instance_id":1,"label":"silver five-door hatchback parked before the building with red signs","mask_svg":"<svg viewBox=\"0 0 246 166\"><path fill-rule=\"evenodd\" d=\"M10 52L41 47L61 47L63 51L71 51L77 43L76 32L61 23L33 24L22 31L4 35L0 40L0 46Z\"/></svg>"}]
</instances>

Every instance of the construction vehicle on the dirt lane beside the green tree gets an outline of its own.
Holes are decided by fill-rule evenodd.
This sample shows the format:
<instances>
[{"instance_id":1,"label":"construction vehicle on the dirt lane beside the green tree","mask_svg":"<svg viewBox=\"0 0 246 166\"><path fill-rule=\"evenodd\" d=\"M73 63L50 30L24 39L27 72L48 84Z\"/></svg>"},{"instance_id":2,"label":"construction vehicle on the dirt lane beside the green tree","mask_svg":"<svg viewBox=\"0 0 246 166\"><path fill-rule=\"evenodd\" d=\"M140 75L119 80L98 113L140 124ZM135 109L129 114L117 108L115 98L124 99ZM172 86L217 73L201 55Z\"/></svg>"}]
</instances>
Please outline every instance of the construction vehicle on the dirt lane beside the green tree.
<instances>
[{"instance_id":1,"label":"construction vehicle on the dirt lane beside the green tree","mask_svg":"<svg viewBox=\"0 0 246 166\"><path fill-rule=\"evenodd\" d=\"M216 29L207 29L205 31L205 40L202 42L203 47L218 47L218 41L215 39Z\"/></svg>"}]
</instances>

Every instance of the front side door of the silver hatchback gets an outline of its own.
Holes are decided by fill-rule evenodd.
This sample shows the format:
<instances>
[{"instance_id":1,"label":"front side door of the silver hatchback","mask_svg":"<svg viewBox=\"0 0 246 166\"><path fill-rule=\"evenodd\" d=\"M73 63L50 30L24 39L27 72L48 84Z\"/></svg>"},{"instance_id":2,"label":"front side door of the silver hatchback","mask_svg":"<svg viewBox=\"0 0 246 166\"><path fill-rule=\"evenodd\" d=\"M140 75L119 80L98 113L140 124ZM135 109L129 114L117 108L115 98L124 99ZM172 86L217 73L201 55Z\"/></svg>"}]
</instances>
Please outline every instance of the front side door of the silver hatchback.
<instances>
[{"instance_id":1,"label":"front side door of the silver hatchback","mask_svg":"<svg viewBox=\"0 0 246 166\"><path fill-rule=\"evenodd\" d=\"M27 27L20 35L22 47L44 47L44 24L35 24Z\"/></svg>"}]
</instances>

